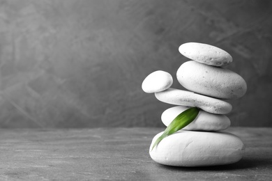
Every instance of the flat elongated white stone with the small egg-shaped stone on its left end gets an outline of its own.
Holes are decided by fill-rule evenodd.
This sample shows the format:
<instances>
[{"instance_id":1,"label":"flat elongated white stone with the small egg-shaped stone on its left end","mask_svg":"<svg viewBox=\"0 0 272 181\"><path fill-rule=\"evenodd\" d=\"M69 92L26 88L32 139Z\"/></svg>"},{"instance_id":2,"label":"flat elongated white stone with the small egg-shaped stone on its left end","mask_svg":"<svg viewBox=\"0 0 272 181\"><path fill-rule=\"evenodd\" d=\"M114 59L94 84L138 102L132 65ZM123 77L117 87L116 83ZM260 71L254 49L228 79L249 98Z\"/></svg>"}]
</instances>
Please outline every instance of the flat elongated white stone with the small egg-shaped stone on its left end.
<instances>
[{"instance_id":1,"label":"flat elongated white stone with the small egg-shaped stone on its left end","mask_svg":"<svg viewBox=\"0 0 272 181\"><path fill-rule=\"evenodd\" d=\"M228 102L176 88L168 88L166 91L155 93L155 96L161 102L186 107L199 107L209 113L225 114L232 111L232 104Z\"/></svg>"}]
</instances>

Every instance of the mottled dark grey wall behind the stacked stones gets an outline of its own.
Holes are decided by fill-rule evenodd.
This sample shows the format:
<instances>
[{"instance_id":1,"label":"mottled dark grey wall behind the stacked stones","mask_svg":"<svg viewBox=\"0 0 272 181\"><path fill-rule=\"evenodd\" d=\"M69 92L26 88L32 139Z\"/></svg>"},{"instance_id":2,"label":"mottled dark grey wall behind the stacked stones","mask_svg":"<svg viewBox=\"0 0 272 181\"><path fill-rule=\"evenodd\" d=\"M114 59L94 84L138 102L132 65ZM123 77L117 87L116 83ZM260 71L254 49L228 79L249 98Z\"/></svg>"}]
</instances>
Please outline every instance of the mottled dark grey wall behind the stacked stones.
<instances>
[{"instance_id":1,"label":"mottled dark grey wall behind the stacked stones","mask_svg":"<svg viewBox=\"0 0 272 181\"><path fill-rule=\"evenodd\" d=\"M0 0L0 127L160 127L172 105L143 79L188 61L184 42L232 54L248 92L233 126L272 126L272 1Z\"/></svg>"}]
</instances>

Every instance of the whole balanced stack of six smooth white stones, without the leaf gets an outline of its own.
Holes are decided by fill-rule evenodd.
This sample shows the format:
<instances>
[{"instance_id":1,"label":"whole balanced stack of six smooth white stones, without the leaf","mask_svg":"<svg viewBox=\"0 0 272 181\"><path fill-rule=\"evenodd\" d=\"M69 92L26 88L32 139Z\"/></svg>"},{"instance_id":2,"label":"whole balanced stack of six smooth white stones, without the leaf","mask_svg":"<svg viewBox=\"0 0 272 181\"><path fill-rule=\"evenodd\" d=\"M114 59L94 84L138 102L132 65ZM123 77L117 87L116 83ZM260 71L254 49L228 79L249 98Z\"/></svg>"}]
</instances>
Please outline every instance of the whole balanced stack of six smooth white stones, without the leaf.
<instances>
[{"instance_id":1,"label":"whole balanced stack of six smooth white stones, without the leaf","mask_svg":"<svg viewBox=\"0 0 272 181\"><path fill-rule=\"evenodd\" d=\"M245 80L235 72L222 68L232 63L232 56L218 47L188 42L179 52L192 61L183 63L176 73L179 83L188 91L170 88L171 74L158 70L149 74L142 83L146 93L155 93L161 102L179 105L162 114L163 123L169 123L190 107L201 109L195 120L160 141L153 150L153 143L163 134L157 134L149 154L160 164L169 166L213 166L232 164L243 157L245 147L239 137L218 132L230 126L224 114L232 105L224 100L242 97L247 89Z\"/></svg>"}]
</instances>

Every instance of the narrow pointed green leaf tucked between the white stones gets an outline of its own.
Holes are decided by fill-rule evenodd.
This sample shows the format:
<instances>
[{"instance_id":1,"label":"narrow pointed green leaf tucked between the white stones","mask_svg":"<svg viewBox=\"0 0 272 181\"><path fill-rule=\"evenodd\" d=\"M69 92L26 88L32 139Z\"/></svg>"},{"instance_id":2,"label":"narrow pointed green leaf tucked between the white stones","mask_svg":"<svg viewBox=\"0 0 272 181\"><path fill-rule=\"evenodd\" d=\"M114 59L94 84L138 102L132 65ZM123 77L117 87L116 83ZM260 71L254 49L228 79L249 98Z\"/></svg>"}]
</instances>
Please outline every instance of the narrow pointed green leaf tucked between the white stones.
<instances>
[{"instance_id":1,"label":"narrow pointed green leaf tucked between the white stones","mask_svg":"<svg viewBox=\"0 0 272 181\"><path fill-rule=\"evenodd\" d=\"M183 127L186 127L187 125L189 125L193 120L195 120L195 118L197 118L198 113L199 113L199 109L197 107L191 107L187 109L186 111L183 111L182 113L180 113L178 116L176 116L176 118L174 118L172 123L170 123L168 127L165 129L165 132L163 132L163 134L160 137L158 137L158 139L155 141L155 143L153 144L152 150L165 137L171 134L174 134L175 132L179 131Z\"/></svg>"}]
</instances>

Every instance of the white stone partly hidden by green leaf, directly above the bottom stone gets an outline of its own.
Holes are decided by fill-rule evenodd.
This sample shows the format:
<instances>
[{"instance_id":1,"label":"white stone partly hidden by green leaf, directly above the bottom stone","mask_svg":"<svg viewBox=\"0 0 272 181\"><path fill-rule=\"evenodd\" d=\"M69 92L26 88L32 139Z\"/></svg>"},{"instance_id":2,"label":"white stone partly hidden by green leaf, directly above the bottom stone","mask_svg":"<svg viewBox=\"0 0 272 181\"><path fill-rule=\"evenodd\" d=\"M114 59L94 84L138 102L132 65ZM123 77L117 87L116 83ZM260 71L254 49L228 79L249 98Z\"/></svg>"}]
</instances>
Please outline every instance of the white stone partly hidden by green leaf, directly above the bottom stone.
<instances>
[{"instance_id":1,"label":"white stone partly hidden by green leaf, directly above the bottom stone","mask_svg":"<svg viewBox=\"0 0 272 181\"><path fill-rule=\"evenodd\" d=\"M176 116L178 116L186 109L190 107L171 107L165 110L161 116L163 124L168 126ZM227 116L222 114L207 113L206 111L200 110L197 118L192 121L183 130L195 130L195 131L221 131L227 129L230 126L230 120Z\"/></svg>"}]
</instances>

